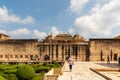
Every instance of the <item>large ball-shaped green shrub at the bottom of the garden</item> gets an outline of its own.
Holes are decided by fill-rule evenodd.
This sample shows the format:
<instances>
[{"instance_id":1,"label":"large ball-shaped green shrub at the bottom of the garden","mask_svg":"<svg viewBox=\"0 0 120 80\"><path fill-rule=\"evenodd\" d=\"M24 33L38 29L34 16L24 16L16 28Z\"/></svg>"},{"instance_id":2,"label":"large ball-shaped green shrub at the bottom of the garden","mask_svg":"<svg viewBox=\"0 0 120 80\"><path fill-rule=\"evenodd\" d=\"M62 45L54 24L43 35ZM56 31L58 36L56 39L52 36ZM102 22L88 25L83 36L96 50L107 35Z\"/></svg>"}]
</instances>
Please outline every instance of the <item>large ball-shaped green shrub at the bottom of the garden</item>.
<instances>
[{"instance_id":1,"label":"large ball-shaped green shrub at the bottom of the garden","mask_svg":"<svg viewBox=\"0 0 120 80\"><path fill-rule=\"evenodd\" d=\"M30 80L35 76L35 71L30 65L22 65L18 68L16 76L20 80Z\"/></svg>"}]
</instances>

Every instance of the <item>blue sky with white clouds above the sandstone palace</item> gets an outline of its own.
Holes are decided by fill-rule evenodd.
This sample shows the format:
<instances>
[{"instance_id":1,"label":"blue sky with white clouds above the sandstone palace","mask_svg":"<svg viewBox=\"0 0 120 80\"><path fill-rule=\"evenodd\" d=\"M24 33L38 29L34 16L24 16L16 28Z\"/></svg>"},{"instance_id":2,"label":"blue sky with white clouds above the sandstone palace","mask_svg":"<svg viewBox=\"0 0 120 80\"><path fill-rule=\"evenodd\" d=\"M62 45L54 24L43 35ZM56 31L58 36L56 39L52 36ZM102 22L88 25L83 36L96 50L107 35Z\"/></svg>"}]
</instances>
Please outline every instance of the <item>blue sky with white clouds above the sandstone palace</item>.
<instances>
[{"instance_id":1,"label":"blue sky with white clouds above the sandstone palace","mask_svg":"<svg viewBox=\"0 0 120 80\"><path fill-rule=\"evenodd\" d=\"M0 32L23 39L42 39L51 32L115 37L119 9L119 0L0 0Z\"/></svg>"}]
</instances>

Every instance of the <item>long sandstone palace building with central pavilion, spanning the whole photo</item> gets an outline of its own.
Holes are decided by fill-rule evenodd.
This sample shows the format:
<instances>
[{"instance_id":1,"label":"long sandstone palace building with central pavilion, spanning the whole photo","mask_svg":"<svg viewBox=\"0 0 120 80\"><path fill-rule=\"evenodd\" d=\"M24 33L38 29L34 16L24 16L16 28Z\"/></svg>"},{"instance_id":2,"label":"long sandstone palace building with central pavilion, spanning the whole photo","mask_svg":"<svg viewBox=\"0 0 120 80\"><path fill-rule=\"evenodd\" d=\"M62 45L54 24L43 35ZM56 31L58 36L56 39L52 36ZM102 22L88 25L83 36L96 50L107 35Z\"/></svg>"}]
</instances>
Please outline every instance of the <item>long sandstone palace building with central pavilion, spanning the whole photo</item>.
<instances>
[{"instance_id":1,"label":"long sandstone palace building with central pavilion, spanning the whole photo","mask_svg":"<svg viewBox=\"0 0 120 80\"><path fill-rule=\"evenodd\" d=\"M120 36L114 38L90 38L86 41L75 35L51 33L38 39L11 39L0 33L0 62L28 63L41 61L64 61L71 56L76 61L117 61L120 56Z\"/></svg>"}]
</instances>

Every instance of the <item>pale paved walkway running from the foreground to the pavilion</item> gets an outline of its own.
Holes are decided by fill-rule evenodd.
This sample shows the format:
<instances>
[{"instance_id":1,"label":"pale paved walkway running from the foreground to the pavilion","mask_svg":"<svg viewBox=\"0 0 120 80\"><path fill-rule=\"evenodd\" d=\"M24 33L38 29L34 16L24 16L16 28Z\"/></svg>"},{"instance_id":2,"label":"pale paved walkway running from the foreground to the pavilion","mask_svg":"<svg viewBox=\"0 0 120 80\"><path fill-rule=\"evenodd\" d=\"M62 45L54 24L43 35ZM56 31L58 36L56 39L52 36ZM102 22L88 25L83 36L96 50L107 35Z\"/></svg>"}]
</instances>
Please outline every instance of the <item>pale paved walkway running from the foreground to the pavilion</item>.
<instances>
[{"instance_id":1,"label":"pale paved walkway running from the foreground to the pavilion","mask_svg":"<svg viewBox=\"0 0 120 80\"><path fill-rule=\"evenodd\" d=\"M59 76L58 80L106 80L91 71L89 68L107 67L116 67L116 65L109 65L105 62L75 62L73 65L73 70L70 72L69 65L66 63L63 75Z\"/></svg>"}]
</instances>

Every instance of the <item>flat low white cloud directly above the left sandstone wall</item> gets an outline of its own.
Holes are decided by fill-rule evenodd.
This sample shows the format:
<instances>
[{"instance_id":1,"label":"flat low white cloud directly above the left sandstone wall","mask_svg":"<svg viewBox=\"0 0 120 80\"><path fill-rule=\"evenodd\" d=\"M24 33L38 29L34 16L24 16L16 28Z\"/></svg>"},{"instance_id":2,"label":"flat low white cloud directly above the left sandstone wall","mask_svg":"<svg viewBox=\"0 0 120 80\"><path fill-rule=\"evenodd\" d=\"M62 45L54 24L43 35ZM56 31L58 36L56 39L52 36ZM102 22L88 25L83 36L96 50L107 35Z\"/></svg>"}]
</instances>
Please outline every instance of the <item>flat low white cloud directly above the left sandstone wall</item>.
<instances>
[{"instance_id":1,"label":"flat low white cloud directly above the left sandstone wall","mask_svg":"<svg viewBox=\"0 0 120 80\"><path fill-rule=\"evenodd\" d=\"M29 35L31 32L27 28L16 29L12 31L8 31L8 33L12 36L21 36L21 35Z\"/></svg>"}]
</instances>

